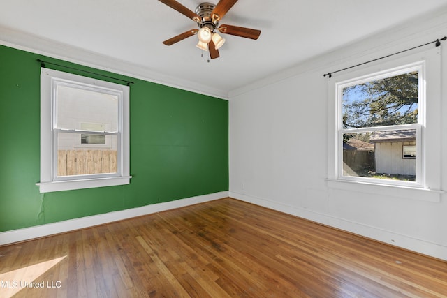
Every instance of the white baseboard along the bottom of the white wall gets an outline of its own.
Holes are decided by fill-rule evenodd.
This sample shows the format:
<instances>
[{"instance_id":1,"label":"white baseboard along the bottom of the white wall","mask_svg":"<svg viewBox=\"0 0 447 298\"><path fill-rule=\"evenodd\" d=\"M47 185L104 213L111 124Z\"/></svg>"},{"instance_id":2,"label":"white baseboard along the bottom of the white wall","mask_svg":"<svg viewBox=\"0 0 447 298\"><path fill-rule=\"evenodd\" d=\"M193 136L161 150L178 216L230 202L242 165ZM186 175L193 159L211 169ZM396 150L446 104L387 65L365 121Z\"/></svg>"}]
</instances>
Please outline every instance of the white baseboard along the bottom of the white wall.
<instances>
[{"instance_id":1,"label":"white baseboard along the bottom of the white wall","mask_svg":"<svg viewBox=\"0 0 447 298\"><path fill-rule=\"evenodd\" d=\"M315 221L316 223L328 225L330 227L344 230L346 232L358 234L362 237L367 237L386 244L405 248L409 251L415 251L416 253L422 253L423 255L430 255L434 258L447 260L446 246L425 241L423 239L416 239L408 235L399 234L389 230L383 230L362 223L356 223L354 221L348 221L344 218L337 218L328 214L321 214L318 212L309 211L308 209L300 207L293 207L288 204L274 202L265 198L256 198L249 195L242 195L241 193L234 193L232 191L229 192L229 196L230 198L235 198L244 202L250 202L252 204L257 204L269 209L281 211L286 214L305 218L309 221Z\"/></svg>"}]
</instances>

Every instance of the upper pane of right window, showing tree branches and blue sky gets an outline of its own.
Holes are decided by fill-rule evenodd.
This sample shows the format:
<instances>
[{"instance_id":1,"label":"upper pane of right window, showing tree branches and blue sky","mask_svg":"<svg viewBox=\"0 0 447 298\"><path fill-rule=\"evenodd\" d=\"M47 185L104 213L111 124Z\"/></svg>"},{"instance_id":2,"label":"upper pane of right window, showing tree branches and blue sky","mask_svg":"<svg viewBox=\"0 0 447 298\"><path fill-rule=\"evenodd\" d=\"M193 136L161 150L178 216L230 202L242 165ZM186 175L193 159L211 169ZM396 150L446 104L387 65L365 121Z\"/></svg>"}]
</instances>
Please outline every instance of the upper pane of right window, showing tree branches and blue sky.
<instances>
[{"instance_id":1,"label":"upper pane of right window, showing tree branches and blue sky","mask_svg":"<svg viewBox=\"0 0 447 298\"><path fill-rule=\"evenodd\" d=\"M418 72L343 89L343 128L418 123Z\"/></svg>"}]
</instances>

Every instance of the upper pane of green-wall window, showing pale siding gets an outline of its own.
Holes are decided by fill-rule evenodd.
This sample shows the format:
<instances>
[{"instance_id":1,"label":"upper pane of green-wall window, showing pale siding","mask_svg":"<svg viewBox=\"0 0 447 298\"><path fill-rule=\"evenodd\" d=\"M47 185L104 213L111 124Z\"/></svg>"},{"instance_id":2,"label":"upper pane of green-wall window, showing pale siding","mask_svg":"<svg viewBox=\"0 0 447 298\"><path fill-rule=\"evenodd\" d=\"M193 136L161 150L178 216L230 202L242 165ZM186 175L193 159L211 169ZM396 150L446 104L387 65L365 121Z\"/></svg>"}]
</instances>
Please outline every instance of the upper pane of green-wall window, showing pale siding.
<instances>
[{"instance_id":1,"label":"upper pane of green-wall window, showing pale siding","mask_svg":"<svg viewBox=\"0 0 447 298\"><path fill-rule=\"evenodd\" d=\"M118 131L118 96L57 86L56 128Z\"/></svg>"}]
</instances>

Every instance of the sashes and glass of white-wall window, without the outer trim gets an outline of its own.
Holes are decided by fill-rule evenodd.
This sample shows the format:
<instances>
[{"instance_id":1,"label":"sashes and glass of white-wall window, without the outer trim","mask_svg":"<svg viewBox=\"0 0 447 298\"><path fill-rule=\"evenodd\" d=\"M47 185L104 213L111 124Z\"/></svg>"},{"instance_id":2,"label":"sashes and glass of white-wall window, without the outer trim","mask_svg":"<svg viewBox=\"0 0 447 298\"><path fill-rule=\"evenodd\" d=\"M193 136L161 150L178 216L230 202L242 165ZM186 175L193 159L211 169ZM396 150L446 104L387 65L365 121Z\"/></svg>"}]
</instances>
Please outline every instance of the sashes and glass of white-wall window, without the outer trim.
<instances>
[{"instance_id":1,"label":"sashes and glass of white-wall window, without the outer trim","mask_svg":"<svg viewBox=\"0 0 447 298\"><path fill-rule=\"evenodd\" d=\"M423 69L421 61L337 84L340 178L421 184L421 159L402 160L402 147L413 144L415 156L422 147Z\"/></svg>"}]
</instances>

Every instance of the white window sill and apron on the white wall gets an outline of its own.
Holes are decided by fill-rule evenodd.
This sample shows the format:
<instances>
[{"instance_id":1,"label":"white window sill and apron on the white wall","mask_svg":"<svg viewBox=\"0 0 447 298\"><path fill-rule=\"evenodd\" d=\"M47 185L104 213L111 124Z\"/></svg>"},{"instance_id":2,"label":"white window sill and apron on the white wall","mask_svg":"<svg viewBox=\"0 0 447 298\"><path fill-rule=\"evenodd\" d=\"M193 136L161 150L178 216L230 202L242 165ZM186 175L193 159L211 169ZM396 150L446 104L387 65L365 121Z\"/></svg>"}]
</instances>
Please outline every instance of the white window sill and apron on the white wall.
<instances>
[{"instance_id":1,"label":"white window sill and apron on the white wall","mask_svg":"<svg viewBox=\"0 0 447 298\"><path fill-rule=\"evenodd\" d=\"M329 188L360 193L374 193L396 198L421 200L425 202L441 202L441 195L445 191L411 186L395 186L386 184L372 184L363 181L344 181L339 179L326 179Z\"/></svg>"}]
</instances>

